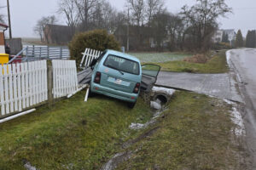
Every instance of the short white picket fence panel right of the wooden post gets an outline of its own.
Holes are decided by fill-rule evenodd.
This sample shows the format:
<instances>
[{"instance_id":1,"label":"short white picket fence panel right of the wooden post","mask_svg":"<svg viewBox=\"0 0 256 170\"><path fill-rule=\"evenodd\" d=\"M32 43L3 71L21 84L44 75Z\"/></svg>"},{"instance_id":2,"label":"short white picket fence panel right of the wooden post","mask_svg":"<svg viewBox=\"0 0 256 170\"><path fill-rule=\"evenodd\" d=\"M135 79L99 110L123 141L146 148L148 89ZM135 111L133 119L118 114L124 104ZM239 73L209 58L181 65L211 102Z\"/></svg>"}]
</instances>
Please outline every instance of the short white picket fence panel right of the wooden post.
<instances>
[{"instance_id":1,"label":"short white picket fence panel right of the wooden post","mask_svg":"<svg viewBox=\"0 0 256 170\"><path fill-rule=\"evenodd\" d=\"M53 95L61 98L72 94L79 88L77 67L75 60L52 60L53 67Z\"/></svg>"}]
</instances>

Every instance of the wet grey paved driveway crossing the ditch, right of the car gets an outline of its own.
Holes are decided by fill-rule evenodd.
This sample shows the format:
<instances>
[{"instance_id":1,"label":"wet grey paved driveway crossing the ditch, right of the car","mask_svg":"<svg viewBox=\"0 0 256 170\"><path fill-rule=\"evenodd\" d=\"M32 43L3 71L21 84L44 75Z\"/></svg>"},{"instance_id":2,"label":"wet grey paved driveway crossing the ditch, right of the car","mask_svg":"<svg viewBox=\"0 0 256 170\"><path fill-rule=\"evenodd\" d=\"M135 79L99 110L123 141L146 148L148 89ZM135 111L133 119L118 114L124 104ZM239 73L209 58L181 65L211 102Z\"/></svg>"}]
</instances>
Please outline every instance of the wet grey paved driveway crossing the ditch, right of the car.
<instances>
[{"instance_id":1,"label":"wet grey paved driveway crossing the ditch, right of the car","mask_svg":"<svg viewBox=\"0 0 256 170\"><path fill-rule=\"evenodd\" d=\"M236 88L236 81L230 73L193 74L161 71L156 85L243 102L239 90Z\"/></svg>"}]
</instances>

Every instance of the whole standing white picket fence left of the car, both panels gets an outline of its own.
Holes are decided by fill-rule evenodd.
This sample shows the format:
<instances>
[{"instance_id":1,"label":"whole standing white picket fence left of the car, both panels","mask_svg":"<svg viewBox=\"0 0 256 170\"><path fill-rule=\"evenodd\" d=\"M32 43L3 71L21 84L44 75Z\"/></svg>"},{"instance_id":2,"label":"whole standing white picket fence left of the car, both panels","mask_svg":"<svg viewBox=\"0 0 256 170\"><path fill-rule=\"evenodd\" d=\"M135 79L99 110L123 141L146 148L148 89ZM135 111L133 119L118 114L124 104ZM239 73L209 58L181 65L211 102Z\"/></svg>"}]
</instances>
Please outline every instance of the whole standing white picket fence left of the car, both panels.
<instances>
[{"instance_id":1,"label":"whole standing white picket fence left of the car, both panels","mask_svg":"<svg viewBox=\"0 0 256 170\"><path fill-rule=\"evenodd\" d=\"M55 99L78 90L74 60L52 60L52 72ZM0 117L40 105L48 98L46 60L0 65Z\"/></svg>"}]
</instances>

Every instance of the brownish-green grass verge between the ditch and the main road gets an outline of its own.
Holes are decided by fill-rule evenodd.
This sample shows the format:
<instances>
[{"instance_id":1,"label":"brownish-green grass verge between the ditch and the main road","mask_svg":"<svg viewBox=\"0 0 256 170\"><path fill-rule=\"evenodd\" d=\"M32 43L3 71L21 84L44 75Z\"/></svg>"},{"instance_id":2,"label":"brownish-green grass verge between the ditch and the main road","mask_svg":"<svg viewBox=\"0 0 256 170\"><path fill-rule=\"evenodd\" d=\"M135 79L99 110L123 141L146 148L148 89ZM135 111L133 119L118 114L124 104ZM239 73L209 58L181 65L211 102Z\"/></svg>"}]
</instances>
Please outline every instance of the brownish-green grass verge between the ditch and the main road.
<instances>
[{"instance_id":1,"label":"brownish-green grass verge between the ditch and the main road","mask_svg":"<svg viewBox=\"0 0 256 170\"><path fill-rule=\"evenodd\" d=\"M159 129L131 146L131 159L117 169L242 169L229 111L222 100L179 92L154 125Z\"/></svg>"}]
</instances>

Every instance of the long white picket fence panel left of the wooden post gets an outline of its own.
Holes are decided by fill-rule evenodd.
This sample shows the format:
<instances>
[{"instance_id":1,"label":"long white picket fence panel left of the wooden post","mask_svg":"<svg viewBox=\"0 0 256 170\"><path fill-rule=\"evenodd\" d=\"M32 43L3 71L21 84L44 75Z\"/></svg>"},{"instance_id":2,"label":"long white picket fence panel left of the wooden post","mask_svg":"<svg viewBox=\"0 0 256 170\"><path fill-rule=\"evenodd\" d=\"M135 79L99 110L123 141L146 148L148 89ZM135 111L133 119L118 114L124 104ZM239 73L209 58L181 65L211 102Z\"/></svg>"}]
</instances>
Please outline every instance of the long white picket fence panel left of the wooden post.
<instances>
[{"instance_id":1,"label":"long white picket fence panel left of the wooden post","mask_svg":"<svg viewBox=\"0 0 256 170\"><path fill-rule=\"evenodd\" d=\"M48 99L46 60L0 65L1 116Z\"/></svg>"}]
</instances>

